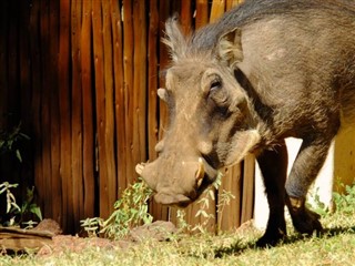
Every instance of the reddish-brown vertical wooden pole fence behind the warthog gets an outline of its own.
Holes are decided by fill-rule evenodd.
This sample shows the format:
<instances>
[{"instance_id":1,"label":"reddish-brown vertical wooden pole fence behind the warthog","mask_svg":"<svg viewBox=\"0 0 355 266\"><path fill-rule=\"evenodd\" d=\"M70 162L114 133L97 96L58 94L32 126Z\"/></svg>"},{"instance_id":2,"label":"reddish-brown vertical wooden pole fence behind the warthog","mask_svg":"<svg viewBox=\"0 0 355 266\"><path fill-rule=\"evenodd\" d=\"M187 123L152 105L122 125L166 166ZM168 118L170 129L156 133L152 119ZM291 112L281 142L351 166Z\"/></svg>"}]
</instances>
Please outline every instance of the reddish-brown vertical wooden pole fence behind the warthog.
<instances>
[{"instance_id":1,"label":"reddish-brown vertical wooden pole fence behind the warthog","mask_svg":"<svg viewBox=\"0 0 355 266\"><path fill-rule=\"evenodd\" d=\"M69 233L79 221L108 217L136 163L153 160L164 105L160 69L164 21L180 13L189 32L215 21L235 0L12 0L0 2L0 129L22 122L31 137L23 184L36 185L44 217ZM206 227L232 229L252 217L254 160L227 170L235 195ZM26 181L24 181L26 180ZM220 198L220 202L222 200ZM217 201L216 201L217 202ZM199 204L186 208L189 223ZM155 219L176 209L151 203Z\"/></svg>"}]
</instances>

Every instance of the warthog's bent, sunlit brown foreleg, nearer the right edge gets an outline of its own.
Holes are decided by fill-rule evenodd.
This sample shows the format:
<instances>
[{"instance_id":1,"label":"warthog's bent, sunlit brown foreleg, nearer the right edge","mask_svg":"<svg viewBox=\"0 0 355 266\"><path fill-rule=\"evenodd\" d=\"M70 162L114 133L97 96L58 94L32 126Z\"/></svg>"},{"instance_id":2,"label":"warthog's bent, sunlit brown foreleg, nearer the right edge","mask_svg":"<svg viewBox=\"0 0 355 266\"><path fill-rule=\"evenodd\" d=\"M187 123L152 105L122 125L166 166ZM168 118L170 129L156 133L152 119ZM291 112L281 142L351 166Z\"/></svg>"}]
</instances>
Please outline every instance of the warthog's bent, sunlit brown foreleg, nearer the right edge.
<instances>
[{"instance_id":1,"label":"warthog's bent, sunlit brown foreleg, nearer the right edge","mask_svg":"<svg viewBox=\"0 0 355 266\"><path fill-rule=\"evenodd\" d=\"M332 140L304 140L286 182L286 205L296 231L322 232L320 215L305 206L306 194L326 158Z\"/></svg>"}]
</instances>

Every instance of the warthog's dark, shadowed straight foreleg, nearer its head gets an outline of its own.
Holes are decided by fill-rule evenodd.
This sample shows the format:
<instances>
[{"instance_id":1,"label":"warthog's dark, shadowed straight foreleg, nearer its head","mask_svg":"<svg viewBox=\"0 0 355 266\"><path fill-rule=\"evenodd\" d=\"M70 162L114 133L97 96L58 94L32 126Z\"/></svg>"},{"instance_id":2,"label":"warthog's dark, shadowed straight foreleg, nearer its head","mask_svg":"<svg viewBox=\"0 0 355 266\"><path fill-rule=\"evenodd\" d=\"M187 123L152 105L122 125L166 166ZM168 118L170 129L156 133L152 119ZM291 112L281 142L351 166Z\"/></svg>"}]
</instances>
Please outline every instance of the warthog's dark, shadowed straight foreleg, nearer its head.
<instances>
[{"instance_id":1,"label":"warthog's dark, shadowed straight foreleg, nearer its head","mask_svg":"<svg viewBox=\"0 0 355 266\"><path fill-rule=\"evenodd\" d=\"M262 171L265 192L270 206L270 216L266 232L256 245L276 245L286 233L284 216L285 208L285 181L287 174L287 150L285 143L281 143L272 151L264 151L257 157Z\"/></svg>"}]
</instances>

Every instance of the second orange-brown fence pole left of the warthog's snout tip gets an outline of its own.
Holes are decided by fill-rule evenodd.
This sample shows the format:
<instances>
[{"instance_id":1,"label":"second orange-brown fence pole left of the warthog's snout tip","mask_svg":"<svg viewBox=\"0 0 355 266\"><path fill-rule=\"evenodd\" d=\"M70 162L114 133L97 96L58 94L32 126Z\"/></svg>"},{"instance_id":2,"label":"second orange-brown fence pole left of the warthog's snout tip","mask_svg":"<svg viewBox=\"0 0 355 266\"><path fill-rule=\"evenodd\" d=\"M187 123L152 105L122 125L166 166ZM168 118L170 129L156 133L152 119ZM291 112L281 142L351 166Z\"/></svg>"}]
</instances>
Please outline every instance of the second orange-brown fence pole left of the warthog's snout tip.
<instances>
[{"instance_id":1,"label":"second orange-brown fence pole left of the warthog's snout tip","mask_svg":"<svg viewBox=\"0 0 355 266\"><path fill-rule=\"evenodd\" d=\"M120 2L110 1L112 20L114 96L115 96L115 127L116 127L116 166L118 166L118 197L126 187L126 155L125 155L125 110L123 82L123 29Z\"/></svg>"}]
</instances>

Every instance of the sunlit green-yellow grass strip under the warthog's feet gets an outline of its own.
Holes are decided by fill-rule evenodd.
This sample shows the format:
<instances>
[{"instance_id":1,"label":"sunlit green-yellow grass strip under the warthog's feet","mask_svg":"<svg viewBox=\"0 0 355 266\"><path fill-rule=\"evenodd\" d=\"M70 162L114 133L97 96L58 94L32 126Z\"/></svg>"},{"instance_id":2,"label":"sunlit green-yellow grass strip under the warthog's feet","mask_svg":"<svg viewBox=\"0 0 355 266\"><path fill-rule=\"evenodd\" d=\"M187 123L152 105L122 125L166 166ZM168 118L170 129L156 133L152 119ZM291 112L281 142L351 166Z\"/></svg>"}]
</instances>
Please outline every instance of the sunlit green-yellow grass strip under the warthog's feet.
<instances>
[{"instance_id":1,"label":"sunlit green-yellow grass strip under the warthog's feet","mask_svg":"<svg viewBox=\"0 0 355 266\"><path fill-rule=\"evenodd\" d=\"M173 237L171 242L145 241L124 250L91 246L81 253L37 257L34 254L0 256L0 265L353 265L355 262L355 214L337 212L322 218L327 233L302 237L293 232L276 247L254 246L261 232L220 236L201 234Z\"/></svg>"}]
</instances>

